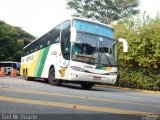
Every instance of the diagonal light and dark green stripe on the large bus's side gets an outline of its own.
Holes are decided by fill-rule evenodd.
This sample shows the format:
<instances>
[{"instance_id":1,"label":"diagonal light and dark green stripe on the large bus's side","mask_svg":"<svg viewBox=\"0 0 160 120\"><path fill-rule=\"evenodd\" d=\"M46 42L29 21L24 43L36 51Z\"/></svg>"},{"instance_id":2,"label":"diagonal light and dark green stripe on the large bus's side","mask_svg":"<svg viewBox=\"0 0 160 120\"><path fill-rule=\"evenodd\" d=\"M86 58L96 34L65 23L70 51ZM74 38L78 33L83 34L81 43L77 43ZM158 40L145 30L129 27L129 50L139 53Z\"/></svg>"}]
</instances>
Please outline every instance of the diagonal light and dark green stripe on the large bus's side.
<instances>
[{"instance_id":1,"label":"diagonal light and dark green stripe on the large bus's side","mask_svg":"<svg viewBox=\"0 0 160 120\"><path fill-rule=\"evenodd\" d=\"M50 47L48 46L48 47L44 48L43 50L41 50L41 52L40 52L40 55L38 58L38 63L36 65L36 70L34 73L34 76L36 76L36 77L41 77L41 75L42 75L42 71L43 71L43 68L45 65L45 61L46 61L46 58L48 55L49 48Z\"/></svg>"}]
</instances>

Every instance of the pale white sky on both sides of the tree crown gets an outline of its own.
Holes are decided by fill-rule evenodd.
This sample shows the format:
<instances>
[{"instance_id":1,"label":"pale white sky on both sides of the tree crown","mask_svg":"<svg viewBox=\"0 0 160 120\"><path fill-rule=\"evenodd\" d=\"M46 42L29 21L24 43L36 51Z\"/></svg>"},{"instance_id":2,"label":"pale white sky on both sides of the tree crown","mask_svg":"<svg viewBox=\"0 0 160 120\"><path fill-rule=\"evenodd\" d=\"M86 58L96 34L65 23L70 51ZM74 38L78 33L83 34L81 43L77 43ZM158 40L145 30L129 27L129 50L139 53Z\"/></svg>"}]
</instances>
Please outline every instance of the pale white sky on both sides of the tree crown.
<instances>
[{"instance_id":1,"label":"pale white sky on both sides of the tree crown","mask_svg":"<svg viewBox=\"0 0 160 120\"><path fill-rule=\"evenodd\" d=\"M160 12L160 0L140 0L141 12ZM66 0L0 0L0 20L40 37L71 15Z\"/></svg>"}]
</instances>

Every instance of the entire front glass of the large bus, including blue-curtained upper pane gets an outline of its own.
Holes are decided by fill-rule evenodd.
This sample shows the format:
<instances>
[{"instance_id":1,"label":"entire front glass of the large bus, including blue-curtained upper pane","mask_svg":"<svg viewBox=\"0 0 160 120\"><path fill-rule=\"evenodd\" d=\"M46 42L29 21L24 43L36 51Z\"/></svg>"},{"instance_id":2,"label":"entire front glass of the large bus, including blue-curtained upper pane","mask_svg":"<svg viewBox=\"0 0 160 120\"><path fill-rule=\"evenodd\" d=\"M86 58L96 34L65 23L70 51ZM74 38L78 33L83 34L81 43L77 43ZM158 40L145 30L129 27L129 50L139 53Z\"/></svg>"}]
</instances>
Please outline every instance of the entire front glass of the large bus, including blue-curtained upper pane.
<instances>
[{"instance_id":1,"label":"entire front glass of the large bus, including blue-curtained upper pane","mask_svg":"<svg viewBox=\"0 0 160 120\"><path fill-rule=\"evenodd\" d=\"M105 66L117 66L116 41L112 28L80 19L73 20L76 42L72 46L74 61Z\"/></svg>"}]
</instances>

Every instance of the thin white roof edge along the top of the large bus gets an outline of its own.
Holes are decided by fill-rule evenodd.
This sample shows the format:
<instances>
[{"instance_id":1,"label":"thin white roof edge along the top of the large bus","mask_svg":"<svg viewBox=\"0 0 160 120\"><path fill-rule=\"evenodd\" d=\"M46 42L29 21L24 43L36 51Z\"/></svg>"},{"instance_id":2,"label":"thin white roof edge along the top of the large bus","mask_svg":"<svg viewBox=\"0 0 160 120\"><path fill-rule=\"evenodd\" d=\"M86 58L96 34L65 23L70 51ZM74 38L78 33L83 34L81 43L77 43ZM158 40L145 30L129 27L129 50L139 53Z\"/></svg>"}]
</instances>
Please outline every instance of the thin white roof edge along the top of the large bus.
<instances>
[{"instance_id":1,"label":"thin white roof edge along the top of the large bus","mask_svg":"<svg viewBox=\"0 0 160 120\"><path fill-rule=\"evenodd\" d=\"M109 26L109 25L106 25L106 24L104 24L104 23L101 23L101 22L99 22L99 21L94 21L94 20L90 20L90 19L87 19L87 18L80 18L80 17L67 17L66 19L63 19L63 20L61 20L60 22L59 22L59 24L61 24L61 23L63 23L64 21L66 21L66 20L73 20L73 19L77 19L77 20L83 20L83 21L87 21L87 22L92 22L92 23L96 23L96 24L100 24L100 25L103 25L103 26L106 26L106 27L108 27L108 28L111 28L112 29L112 27L111 26ZM59 24L57 24L57 25L59 25ZM57 25L55 25L54 27L56 27ZM53 28L54 28L53 27ZM53 29L52 28L52 29ZM51 30L52 30L51 29ZM49 32L49 31L48 31ZM46 33L45 33L46 34ZM45 34L43 34L43 35L45 35ZM42 36L43 36L42 35ZM41 36L41 37L42 37ZM37 39L35 39L35 40L33 40L32 42L30 42L29 44L27 44L23 49L25 49L27 46L29 46L30 44L32 44L33 42L35 42L35 41L37 41L39 38L41 38L41 37L38 37Z\"/></svg>"}]
</instances>

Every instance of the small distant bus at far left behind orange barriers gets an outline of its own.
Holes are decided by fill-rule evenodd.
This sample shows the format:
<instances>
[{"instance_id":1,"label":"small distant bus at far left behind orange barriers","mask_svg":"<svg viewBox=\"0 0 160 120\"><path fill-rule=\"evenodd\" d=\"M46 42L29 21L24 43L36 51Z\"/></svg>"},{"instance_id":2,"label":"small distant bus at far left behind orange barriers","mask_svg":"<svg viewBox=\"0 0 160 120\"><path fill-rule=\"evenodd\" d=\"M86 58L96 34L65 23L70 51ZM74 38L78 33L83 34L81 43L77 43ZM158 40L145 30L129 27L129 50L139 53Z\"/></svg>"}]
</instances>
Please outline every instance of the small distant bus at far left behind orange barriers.
<instances>
[{"instance_id":1,"label":"small distant bus at far left behind orange barriers","mask_svg":"<svg viewBox=\"0 0 160 120\"><path fill-rule=\"evenodd\" d=\"M11 68L16 70L16 74L20 75L20 62L13 62L13 61L0 61L0 68L4 67L5 74L11 74Z\"/></svg>"}]
</instances>

